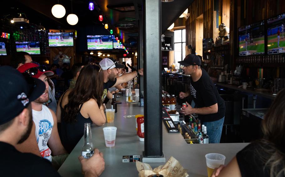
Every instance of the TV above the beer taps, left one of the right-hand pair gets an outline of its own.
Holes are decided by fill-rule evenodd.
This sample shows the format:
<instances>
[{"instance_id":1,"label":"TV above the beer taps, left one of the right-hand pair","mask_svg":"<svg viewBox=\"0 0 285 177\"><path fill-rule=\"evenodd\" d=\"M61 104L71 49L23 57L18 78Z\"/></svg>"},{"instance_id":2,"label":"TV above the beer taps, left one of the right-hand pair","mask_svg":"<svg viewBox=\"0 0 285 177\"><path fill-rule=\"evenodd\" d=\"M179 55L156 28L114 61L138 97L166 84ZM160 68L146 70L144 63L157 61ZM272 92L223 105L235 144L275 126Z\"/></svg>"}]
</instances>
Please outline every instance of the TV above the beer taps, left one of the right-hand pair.
<instances>
[{"instance_id":1,"label":"TV above the beer taps, left one of the right-hand pair","mask_svg":"<svg viewBox=\"0 0 285 177\"><path fill-rule=\"evenodd\" d=\"M239 55L264 54L264 20L239 27Z\"/></svg>"}]
</instances>

